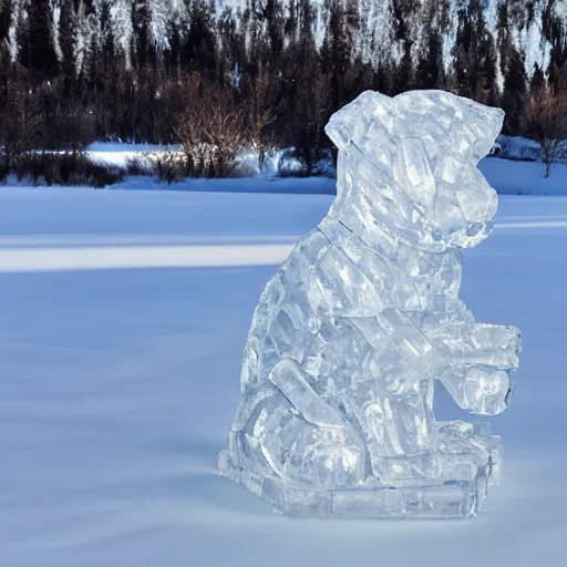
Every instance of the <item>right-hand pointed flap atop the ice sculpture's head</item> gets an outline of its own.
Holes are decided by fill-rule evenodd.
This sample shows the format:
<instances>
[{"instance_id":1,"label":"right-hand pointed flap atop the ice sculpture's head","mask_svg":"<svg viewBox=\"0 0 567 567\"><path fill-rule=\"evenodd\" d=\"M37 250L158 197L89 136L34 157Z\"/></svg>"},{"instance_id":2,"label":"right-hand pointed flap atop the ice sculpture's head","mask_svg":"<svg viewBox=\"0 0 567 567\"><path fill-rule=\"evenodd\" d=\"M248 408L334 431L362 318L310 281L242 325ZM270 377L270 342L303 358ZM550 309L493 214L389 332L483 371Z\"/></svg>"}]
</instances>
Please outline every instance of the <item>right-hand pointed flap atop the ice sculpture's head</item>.
<instances>
[{"instance_id":1,"label":"right-hand pointed flap atop the ice sculpture's head","mask_svg":"<svg viewBox=\"0 0 567 567\"><path fill-rule=\"evenodd\" d=\"M444 145L451 154L475 164L489 153L504 122L503 110L445 91L415 91L411 96L404 93L396 96L395 102L402 113L406 111L423 116L423 121L419 121L424 130L419 133L420 137L431 135L433 123L435 130L441 127L444 131L436 133L435 137L440 137L436 143Z\"/></svg>"}]
</instances>

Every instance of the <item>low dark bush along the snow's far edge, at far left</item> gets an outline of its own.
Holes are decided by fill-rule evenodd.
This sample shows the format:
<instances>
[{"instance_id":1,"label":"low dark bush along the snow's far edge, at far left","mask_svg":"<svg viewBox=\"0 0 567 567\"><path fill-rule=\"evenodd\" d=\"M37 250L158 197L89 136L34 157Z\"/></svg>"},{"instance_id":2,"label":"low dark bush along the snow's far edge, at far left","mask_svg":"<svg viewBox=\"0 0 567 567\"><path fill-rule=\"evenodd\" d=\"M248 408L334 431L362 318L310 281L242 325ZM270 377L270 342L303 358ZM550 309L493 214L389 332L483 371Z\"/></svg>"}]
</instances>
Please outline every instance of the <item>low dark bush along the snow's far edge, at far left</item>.
<instances>
[{"instance_id":1,"label":"low dark bush along the snow's far edge, at far left","mask_svg":"<svg viewBox=\"0 0 567 567\"><path fill-rule=\"evenodd\" d=\"M13 165L18 179L31 178L34 185L89 185L106 187L124 177L117 167L91 162L84 154L28 153L20 155Z\"/></svg>"}]
</instances>

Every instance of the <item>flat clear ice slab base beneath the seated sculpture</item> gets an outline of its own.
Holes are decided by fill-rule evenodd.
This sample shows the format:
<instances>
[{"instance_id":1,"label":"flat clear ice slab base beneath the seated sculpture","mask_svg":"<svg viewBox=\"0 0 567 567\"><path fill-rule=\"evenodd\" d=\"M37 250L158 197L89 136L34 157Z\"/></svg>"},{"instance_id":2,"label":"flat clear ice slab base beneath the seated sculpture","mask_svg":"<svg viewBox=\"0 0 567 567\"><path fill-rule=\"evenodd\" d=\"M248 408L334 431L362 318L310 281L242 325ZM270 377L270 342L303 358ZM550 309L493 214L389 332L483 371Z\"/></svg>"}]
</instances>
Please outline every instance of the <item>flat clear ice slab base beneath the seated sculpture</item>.
<instances>
[{"instance_id":1,"label":"flat clear ice slab base beneath the seated sculpture","mask_svg":"<svg viewBox=\"0 0 567 567\"><path fill-rule=\"evenodd\" d=\"M443 424L440 424L443 425ZM475 517L484 507L488 489L499 484L502 443L489 435L488 424L475 424L476 439L486 450L484 463L470 452L446 455L447 475L440 484L421 482L354 488L317 489L257 474L235 466L228 451L218 458L219 472L290 516L368 519L452 519ZM447 466L449 465L449 466Z\"/></svg>"}]
</instances>

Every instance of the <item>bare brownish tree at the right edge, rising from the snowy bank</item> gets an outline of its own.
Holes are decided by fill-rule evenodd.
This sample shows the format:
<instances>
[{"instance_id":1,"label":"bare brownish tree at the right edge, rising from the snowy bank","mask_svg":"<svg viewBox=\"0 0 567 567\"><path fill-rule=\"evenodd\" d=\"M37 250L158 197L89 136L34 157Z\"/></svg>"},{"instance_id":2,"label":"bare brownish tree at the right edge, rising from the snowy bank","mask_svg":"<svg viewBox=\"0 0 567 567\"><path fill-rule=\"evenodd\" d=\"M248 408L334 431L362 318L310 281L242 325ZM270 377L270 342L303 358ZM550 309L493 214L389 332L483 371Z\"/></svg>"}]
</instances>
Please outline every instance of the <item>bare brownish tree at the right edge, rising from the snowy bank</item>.
<instances>
[{"instance_id":1,"label":"bare brownish tree at the right edge, rising from the snowy bank","mask_svg":"<svg viewBox=\"0 0 567 567\"><path fill-rule=\"evenodd\" d=\"M524 131L539 143L539 158L549 177L555 163L567 159L567 94L542 89L528 100Z\"/></svg>"}]
</instances>

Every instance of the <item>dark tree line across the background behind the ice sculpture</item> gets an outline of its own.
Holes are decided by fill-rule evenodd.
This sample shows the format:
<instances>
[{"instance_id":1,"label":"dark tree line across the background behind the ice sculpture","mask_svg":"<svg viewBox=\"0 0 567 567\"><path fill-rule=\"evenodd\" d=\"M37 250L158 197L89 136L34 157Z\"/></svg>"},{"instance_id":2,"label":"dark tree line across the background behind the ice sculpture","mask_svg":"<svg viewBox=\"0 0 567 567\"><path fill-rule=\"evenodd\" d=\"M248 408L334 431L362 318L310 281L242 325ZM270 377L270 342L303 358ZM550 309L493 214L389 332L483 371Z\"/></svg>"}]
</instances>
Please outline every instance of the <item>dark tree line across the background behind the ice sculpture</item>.
<instances>
[{"instance_id":1,"label":"dark tree line across the background behind the ice sculpture","mask_svg":"<svg viewBox=\"0 0 567 567\"><path fill-rule=\"evenodd\" d=\"M464 2L449 64L443 27L433 24L439 13L419 44L404 24L413 0L393 1L401 55L375 60L353 47L361 25L355 0L328 0L319 44L309 0L286 13L278 0L251 1L238 22L214 2L190 0L187 18L168 22L161 43L152 31L155 1L136 0L124 16L132 29L125 49L117 49L110 0L61 0L56 21L50 0L33 0L14 24L19 2L0 0L4 169L32 148L79 153L100 140L179 143L187 171L212 176L227 174L243 146L258 151L260 166L269 147L293 146L309 172L330 147L329 116L367 89L445 89L502 106L507 134L567 137L564 121L555 120L567 114L563 23L549 12L549 65L528 74L513 41L515 0L499 6L496 34L483 2ZM80 33L85 21L94 31Z\"/></svg>"}]
</instances>

